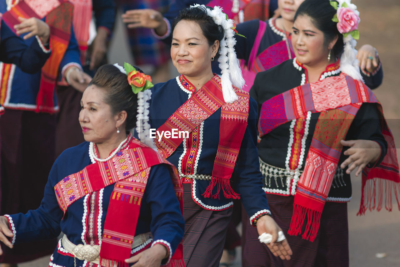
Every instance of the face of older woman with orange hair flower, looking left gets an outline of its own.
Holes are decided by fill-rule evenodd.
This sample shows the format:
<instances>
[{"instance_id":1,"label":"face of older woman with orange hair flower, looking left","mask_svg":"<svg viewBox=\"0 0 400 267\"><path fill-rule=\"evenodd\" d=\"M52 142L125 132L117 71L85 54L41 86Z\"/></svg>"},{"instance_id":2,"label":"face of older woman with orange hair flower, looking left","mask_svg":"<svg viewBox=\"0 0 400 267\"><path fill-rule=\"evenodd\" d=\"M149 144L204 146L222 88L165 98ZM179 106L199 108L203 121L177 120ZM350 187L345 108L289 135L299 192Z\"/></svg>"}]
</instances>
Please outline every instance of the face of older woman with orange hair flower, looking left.
<instances>
[{"instance_id":1,"label":"face of older woman with orange hair flower, looking left","mask_svg":"<svg viewBox=\"0 0 400 267\"><path fill-rule=\"evenodd\" d=\"M96 85L90 85L80 102L79 123L87 142L102 143L117 134L120 126L118 114L112 114L111 107L104 99L106 92Z\"/></svg>"}]
</instances>

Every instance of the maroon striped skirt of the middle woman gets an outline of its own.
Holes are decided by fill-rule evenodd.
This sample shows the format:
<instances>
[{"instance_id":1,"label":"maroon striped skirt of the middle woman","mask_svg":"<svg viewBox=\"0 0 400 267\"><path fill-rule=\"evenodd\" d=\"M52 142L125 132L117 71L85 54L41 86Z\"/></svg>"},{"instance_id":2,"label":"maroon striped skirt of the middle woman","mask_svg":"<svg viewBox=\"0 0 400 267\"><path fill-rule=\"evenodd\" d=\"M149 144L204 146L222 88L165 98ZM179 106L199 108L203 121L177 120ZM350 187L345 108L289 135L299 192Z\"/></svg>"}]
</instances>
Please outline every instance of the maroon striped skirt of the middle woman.
<instances>
[{"instance_id":1,"label":"maroon striped skirt of the middle woman","mask_svg":"<svg viewBox=\"0 0 400 267\"><path fill-rule=\"evenodd\" d=\"M183 259L186 267L216 267L224 249L232 208L206 210L192 199L190 184L183 184Z\"/></svg>"}]
</instances>

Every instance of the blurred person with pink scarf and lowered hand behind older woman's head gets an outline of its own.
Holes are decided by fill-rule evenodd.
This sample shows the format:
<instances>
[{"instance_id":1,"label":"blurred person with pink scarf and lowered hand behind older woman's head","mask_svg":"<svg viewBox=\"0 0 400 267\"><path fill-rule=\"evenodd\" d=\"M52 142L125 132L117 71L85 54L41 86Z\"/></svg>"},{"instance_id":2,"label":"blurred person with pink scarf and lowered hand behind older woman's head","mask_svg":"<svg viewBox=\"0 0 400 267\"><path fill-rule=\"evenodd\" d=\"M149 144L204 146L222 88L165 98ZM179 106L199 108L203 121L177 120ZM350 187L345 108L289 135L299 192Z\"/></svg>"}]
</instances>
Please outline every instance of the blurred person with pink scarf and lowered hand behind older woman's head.
<instances>
[{"instance_id":1,"label":"blurred person with pink scarf and lowered hand behind older woman's head","mask_svg":"<svg viewBox=\"0 0 400 267\"><path fill-rule=\"evenodd\" d=\"M70 0L74 4L72 25L80 51L80 60L69 66L82 69L92 77L97 68L107 62L108 40L115 18L114 0ZM93 23L94 22L94 23ZM56 156L61 152L84 142L82 129L76 117L80 111L80 99L85 86L77 88L66 79L57 83ZM87 84L86 84L87 85Z\"/></svg>"}]
</instances>

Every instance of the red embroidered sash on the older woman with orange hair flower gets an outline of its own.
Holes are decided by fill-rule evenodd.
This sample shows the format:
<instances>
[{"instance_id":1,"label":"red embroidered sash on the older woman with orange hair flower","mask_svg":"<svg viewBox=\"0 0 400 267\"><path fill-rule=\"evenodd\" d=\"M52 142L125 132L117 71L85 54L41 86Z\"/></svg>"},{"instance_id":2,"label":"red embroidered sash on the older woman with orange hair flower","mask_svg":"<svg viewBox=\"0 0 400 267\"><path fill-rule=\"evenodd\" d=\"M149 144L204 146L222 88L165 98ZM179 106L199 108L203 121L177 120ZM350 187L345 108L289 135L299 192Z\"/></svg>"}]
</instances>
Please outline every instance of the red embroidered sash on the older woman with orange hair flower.
<instances>
[{"instance_id":1,"label":"red embroidered sash on the older woman with orange hair flower","mask_svg":"<svg viewBox=\"0 0 400 267\"><path fill-rule=\"evenodd\" d=\"M65 214L68 206L79 198L115 184L102 235L102 266L128 266L124 260L130 257L150 168L162 163L170 166L172 183L182 212L183 191L176 168L154 150L136 140L131 142L128 150L118 152L106 162L90 164L54 186L58 204ZM170 261L170 266L179 266L178 263L182 262L182 251L178 249L176 255Z\"/></svg>"}]
</instances>

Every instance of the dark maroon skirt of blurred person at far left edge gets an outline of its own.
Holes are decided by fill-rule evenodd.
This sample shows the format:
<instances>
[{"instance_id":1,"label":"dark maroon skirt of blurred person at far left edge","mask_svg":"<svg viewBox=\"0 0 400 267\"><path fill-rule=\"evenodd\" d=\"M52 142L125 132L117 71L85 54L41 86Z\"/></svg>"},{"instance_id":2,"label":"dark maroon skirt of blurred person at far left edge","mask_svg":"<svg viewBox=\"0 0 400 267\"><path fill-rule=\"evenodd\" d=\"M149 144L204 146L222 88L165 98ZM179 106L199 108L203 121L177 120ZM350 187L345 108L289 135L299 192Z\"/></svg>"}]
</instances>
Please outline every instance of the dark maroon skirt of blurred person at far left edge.
<instances>
[{"instance_id":1,"label":"dark maroon skirt of blurred person at far left edge","mask_svg":"<svg viewBox=\"0 0 400 267\"><path fill-rule=\"evenodd\" d=\"M6 109L0 117L1 214L36 209L54 163L56 116ZM20 263L50 255L57 240L3 247L0 262Z\"/></svg>"}]
</instances>

